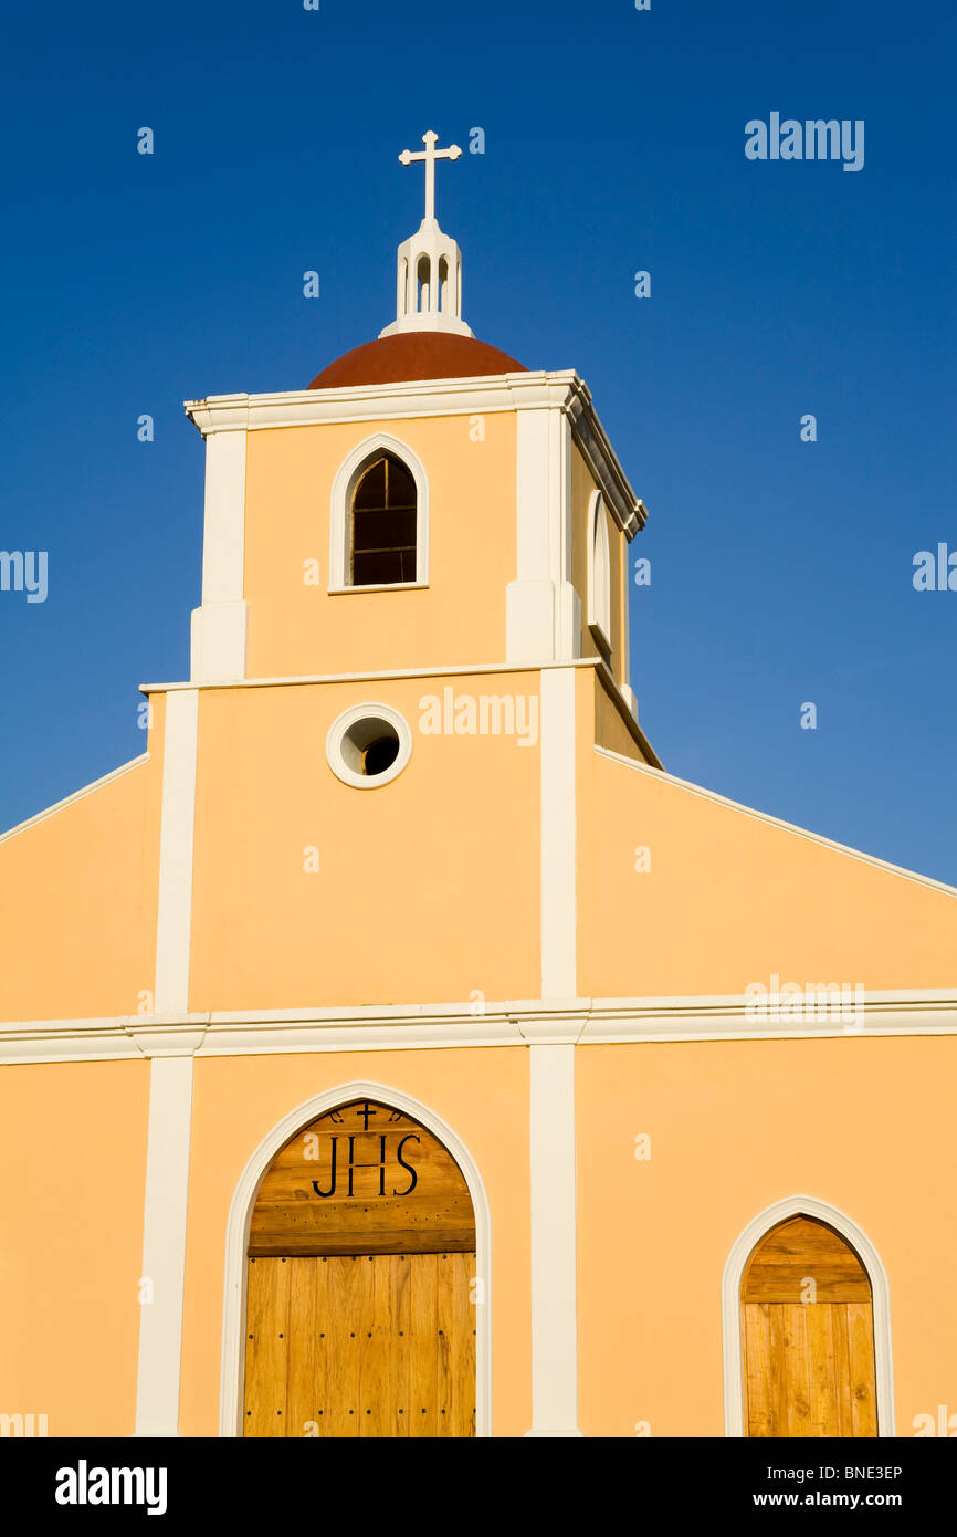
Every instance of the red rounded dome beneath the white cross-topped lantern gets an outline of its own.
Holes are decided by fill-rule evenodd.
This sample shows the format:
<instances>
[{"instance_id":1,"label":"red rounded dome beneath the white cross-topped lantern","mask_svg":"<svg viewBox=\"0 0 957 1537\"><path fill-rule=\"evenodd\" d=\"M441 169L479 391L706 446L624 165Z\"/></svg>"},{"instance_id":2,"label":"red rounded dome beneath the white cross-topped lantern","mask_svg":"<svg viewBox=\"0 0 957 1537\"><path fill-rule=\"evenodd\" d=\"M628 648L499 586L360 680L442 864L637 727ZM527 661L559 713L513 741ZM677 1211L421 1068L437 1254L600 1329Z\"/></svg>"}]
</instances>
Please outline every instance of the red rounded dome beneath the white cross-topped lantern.
<instances>
[{"instance_id":1,"label":"red rounded dome beneath the white cross-topped lantern","mask_svg":"<svg viewBox=\"0 0 957 1537\"><path fill-rule=\"evenodd\" d=\"M507 352L449 330L404 330L366 341L316 373L309 389L346 384L402 384L409 380L455 380L479 373L527 373Z\"/></svg>"}]
</instances>

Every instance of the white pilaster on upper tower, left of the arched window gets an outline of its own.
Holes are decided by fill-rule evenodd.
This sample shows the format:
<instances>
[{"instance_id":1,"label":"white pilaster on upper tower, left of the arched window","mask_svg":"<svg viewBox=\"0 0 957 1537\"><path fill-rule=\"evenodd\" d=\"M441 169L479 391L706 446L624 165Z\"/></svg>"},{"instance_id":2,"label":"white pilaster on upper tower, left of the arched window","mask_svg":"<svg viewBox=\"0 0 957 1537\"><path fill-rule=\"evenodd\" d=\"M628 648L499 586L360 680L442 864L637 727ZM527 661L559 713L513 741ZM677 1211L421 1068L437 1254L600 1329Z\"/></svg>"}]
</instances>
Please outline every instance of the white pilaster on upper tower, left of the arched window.
<instances>
[{"instance_id":1,"label":"white pilaster on upper tower, left of the arched window","mask_svg":"<svg viewBox=\"0 0 957 1537\"><path fill-rule=\"evenodd\" d=\"M206 437L203 606L194 609L190 633L194 682L232 682L246 676L244 553L246 432L210 432Z\"/></svg>"}]
</instances>

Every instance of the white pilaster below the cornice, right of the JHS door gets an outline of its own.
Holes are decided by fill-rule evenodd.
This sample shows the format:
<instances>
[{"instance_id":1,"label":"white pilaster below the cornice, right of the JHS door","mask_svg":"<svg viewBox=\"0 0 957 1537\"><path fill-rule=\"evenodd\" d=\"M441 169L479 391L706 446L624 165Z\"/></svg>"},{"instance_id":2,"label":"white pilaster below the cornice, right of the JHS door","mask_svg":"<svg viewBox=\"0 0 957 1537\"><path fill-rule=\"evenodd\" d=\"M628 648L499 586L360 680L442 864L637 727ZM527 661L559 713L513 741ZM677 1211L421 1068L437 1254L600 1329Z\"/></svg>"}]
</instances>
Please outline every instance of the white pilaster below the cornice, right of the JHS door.
<instances>
[{"instance_id":1,"label":"white pilaster below the cornice, right of the JHS door","mask_svg":"<svg viewBox=\"0 0 957 1537\"><path fill-rule=\"evenodd\" d=\"M575 1045L531 1054L531 1437L581 1436L575 1234Z\"/></svg>"}]
</instances>

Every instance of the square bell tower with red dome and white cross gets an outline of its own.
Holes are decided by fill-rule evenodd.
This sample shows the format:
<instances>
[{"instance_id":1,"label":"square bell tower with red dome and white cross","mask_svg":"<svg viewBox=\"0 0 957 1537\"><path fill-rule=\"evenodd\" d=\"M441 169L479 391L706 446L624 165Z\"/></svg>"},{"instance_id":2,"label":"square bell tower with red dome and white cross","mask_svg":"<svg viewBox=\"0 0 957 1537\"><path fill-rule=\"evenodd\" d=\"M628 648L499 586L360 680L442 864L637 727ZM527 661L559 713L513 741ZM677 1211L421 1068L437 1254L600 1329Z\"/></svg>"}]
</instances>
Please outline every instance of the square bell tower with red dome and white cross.
<instances>
[{"instance_id":1,"label":"square bell tower with red dome and white cross","mask_svg":"<svg viewBox=\"0 0 957 1537\"><path fill-rule=\"evenodd\" d=\"M628 544L645 523L573 369L528 369L462 320L462 258L424 217L396 318L307 389L186 410L206 440L200 686L593 664L639 752ZM378 716L376 716L378 719Z\"/></svg>"}]
</instances>

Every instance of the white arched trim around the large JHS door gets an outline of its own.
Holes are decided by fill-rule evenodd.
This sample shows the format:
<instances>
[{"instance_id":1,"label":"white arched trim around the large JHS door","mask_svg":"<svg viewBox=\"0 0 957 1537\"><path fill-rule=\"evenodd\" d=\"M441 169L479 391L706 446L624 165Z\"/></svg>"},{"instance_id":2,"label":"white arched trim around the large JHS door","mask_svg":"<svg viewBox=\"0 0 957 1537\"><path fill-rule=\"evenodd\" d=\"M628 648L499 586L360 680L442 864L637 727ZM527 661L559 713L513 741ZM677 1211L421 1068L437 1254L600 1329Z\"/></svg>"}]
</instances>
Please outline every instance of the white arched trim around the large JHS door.
<instances>
[{"instance_id":1,"label":"white arched trim around the large JHS door","mask_svg":"<svg viewBox=\"0 0 957 1537\"><path fill-rule=\"evenodd\" d=\"M246 1248L249 1223L260 1185L273 1157L316 1116L336 1110L353 1099L375 1099L404 1111L421 1122L427 1131L442 1142L461 1168L472 1210L475 1213L475 1274L476 1274L476 1320L475 1320L475 1432L492 1436L492 1217L488 1197L478 1165L465 1144L455 1134L441 1116L418 1099L402 1094L389 1084L356 1081L336 1084L321 1094L313 1094L290 1110L270 1131L249 1159L229 1207L226 1225L226 1290L223 1297L223 1363L220 1371L220 1436L240 1436L243 1423L243 1363L246 1336Z\"/></svg>"}]
</instances>

